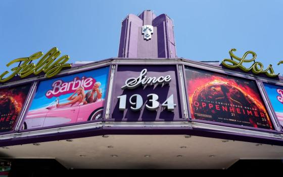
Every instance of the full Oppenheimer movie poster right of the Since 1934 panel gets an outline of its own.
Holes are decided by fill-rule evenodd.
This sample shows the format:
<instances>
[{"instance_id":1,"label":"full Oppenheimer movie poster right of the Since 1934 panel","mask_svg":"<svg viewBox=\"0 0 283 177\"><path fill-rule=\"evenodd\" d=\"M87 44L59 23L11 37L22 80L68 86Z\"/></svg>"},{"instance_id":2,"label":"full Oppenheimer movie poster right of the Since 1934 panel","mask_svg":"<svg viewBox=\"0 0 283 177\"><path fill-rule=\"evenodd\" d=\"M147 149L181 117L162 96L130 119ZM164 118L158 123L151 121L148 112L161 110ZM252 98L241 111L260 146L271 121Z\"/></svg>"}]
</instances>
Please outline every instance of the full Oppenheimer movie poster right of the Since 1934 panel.
<instances>
[{"instance_id":1,"label":"full Oppenheimer movie poster right of the Since 1934 panel","mask_svg":"<svg viewBox=\"0 0 283 177\"><path fill-rule=\"evenodd\" d=\"M186 68L192 119L274 129L253 80Z\"/></svg>"}]
</instances>

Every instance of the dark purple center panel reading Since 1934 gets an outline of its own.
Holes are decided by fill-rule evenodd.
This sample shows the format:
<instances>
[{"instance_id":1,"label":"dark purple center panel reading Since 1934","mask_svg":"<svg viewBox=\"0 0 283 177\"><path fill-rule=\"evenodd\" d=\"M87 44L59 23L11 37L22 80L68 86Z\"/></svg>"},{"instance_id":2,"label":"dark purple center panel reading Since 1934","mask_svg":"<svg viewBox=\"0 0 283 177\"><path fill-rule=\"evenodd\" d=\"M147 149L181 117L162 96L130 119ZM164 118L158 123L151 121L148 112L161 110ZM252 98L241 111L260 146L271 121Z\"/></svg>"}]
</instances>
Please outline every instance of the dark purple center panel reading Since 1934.
<instances>
[{"instance_id":1,"label":"dark purple center panel reading Since 1934","mask_svg":"<svg viewBox=\"0 0 283 177\"><path fill-rule=\"evenodd\" d=\"M116 73L112 118L171 121L180 118L176 66L121 65Z\"/></svg>"}]
</instances>

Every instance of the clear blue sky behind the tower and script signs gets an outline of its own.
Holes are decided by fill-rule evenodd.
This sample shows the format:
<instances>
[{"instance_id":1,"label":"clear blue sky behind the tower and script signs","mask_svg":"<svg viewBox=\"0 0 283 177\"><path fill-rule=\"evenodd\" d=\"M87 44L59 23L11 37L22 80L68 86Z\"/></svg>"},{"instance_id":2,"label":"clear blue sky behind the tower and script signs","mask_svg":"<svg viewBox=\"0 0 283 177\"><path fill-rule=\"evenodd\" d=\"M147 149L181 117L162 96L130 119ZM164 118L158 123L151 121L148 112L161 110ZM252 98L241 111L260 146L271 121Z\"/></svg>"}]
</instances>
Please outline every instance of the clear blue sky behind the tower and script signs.
<instances>
[{"instance_id":1,"label":"clear blue sky behind the tower and script signs","mask_svg":"<svg viewBox=\"0 0 283 177\"><path fill-rule=\"evenodd\" d=\"M16 58L57 47L75 61L117 57L121 21L153 10L174 20L178 57L221 61L228 51L257 53L265 68L283 74L283 1L119 0L0 2L0 73Z\"/></svg>"}]
</instances>

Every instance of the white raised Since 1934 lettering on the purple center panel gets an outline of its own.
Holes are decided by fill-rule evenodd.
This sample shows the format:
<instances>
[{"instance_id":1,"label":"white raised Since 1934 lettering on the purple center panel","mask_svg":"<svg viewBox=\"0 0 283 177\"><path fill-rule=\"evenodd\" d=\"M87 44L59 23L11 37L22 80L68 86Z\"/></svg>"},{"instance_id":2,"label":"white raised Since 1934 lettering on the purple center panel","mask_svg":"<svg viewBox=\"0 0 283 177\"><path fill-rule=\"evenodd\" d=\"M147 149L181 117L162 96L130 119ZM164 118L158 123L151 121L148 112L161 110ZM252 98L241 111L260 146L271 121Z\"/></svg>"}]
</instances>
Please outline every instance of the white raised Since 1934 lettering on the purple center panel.
<instances>
[{"instance_id":1,"label":"white raised Since 1934 lettering on the purple center panel","mask_svg":"<svg viewBox=\"0 0 283 177\"><path fill-rule=\"evenodd\" d=\"M147 77L147 69L141 70L139 76L137 78L130 77L125 81L125 85L121 87L122 90L136 89L138 86L148 86L155 84L169 84L171 81L171 76L160 76L160 77ZM119 100L119 110L124 111L126 109L126 100L127 95L121 95L117 97ZM150 111L156 111L159 108L159 96L157 94L148 94L146 100L146 109ZM139 94L134 94L129 98L130 109L132 111L140 111L144 105L144 100ZM171 94L162 104L162 108L167 109L168 111L174 111L176 104L174 104L174 96Z\"/></svg>"}]
</instances>

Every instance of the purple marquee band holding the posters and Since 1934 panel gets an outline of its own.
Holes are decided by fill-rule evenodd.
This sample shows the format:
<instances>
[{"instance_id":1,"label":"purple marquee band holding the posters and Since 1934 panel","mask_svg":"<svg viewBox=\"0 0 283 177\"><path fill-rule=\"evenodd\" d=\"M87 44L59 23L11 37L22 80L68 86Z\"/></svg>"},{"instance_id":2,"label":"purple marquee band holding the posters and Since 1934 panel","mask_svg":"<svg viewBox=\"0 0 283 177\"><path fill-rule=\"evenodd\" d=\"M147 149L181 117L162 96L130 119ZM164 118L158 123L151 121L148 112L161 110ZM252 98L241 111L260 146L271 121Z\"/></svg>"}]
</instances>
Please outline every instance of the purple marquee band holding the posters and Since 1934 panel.
<instances>
[{"instance_id":1,"label":"purple marquee band holding the posters and Since 1934 panel","mask_svg":"<svg viewBox=\"0 0 283 177\"><path fill-rule=\"evenodd\" d=\"M0 89L0 135L59 140L65 132L199 136L217 129L225 138L234 132L281 141L282 86L232 72L184 59L110 59L12 82Z\"/></svg>"}]
</instances>

